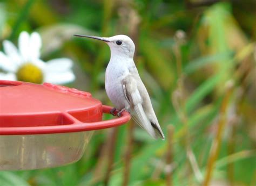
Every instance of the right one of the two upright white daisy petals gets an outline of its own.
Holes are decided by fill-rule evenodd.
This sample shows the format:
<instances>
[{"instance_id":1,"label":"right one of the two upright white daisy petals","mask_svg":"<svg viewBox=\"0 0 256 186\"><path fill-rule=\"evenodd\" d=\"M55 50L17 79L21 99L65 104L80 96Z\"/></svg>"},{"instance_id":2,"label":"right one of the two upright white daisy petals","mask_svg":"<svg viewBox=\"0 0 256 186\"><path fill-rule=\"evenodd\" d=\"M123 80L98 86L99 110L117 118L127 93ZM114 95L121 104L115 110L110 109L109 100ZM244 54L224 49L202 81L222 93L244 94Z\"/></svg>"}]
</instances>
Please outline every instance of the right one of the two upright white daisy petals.
<instances>
[{"instance_id":1,"label":"right one of the two upright white daisy petals","mask_svg":"<svg viewBox=\"0 0 256 186\"><path fill-rule=\"evenodd\" d=\"M40 35L37 32L33 32L30 35L29 43L30 60L39 59L41 46L42 40Z\"/></svg>"}]
</instances>

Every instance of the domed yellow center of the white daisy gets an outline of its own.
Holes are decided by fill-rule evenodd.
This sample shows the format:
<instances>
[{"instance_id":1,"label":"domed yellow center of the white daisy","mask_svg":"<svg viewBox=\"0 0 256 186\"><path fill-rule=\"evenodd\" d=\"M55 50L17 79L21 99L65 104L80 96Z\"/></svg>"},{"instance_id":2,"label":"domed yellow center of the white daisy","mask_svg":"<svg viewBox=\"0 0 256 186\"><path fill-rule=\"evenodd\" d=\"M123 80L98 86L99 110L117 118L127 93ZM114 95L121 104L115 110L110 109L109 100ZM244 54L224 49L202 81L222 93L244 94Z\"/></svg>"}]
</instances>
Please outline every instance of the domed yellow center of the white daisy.
<instances>
[{"instance_id":1,"label":"domed yellow center of the white daisy","mask_svg":"<svg viewBox=\"0 0 256 186\"><path fill-rule=\"evenodd\" d=\"M18 69L16 76L18 81L25 81L38 84L43 83L42 70L30 62L22 65Z\"/></svg>"}]
</instances>

